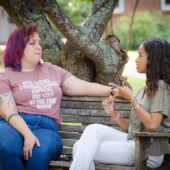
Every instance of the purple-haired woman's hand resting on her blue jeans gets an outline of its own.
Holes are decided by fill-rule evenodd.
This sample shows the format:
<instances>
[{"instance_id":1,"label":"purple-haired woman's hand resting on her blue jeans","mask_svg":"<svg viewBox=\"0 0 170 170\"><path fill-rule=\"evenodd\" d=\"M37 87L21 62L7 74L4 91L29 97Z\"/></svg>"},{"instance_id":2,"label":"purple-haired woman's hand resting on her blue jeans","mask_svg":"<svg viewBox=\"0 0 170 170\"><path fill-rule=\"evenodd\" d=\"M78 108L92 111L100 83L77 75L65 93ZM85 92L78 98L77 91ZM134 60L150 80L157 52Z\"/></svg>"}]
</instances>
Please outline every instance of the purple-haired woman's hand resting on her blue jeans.
<instances>
[{"instance_id":1,"label":"purple-haired woman's hand resting on her blue jeans","mask_svg":"<svg viewBox=\"0 0 170 170\"><path fill-rule=\"evenodd\" d=\"M40 147L40 142L38 138L34 136L34 134L30 133L24 137L23 154L25 160L28 160L29 157L32 157L32 150L35 144Z\"/></svg>"}]
</instances>

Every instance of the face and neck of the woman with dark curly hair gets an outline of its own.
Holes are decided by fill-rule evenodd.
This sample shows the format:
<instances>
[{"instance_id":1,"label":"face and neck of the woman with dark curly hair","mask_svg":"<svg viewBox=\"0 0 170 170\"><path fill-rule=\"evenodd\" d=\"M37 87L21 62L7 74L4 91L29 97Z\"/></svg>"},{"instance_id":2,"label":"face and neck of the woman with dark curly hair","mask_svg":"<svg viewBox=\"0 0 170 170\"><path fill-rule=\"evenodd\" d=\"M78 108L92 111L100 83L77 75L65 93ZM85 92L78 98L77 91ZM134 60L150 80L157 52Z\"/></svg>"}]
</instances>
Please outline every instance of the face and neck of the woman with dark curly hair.
<instances>
[{"instance_id":1,"label":"face and neck of the woman with dark curly hair","mask_svg":"<svg viewBox=\"0 0 170 170\"><path fill-rule=\"evenodd\" d=\"M136 59L136 69L138 73L146 73L148 54L143 45L139 47L139 56Z\"/></svg>"}]
</instances>

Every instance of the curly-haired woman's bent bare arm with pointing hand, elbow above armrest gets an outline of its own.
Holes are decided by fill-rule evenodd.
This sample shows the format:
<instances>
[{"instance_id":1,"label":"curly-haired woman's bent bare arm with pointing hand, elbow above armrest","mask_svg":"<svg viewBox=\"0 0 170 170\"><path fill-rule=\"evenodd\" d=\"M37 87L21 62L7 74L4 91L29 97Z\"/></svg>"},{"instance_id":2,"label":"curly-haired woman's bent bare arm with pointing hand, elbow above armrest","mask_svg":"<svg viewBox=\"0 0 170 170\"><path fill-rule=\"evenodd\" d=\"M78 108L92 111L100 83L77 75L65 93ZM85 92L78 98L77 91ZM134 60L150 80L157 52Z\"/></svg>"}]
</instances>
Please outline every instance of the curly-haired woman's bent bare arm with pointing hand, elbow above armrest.
<instances>
[{"instance_id":1,"label":"curly-haired woman's bent bare arm with pointing hand, elbow above armrest","mask_svg":"<svg viewBox=\"0 0 170 170\"><path fill-rule=\"evenodd\" d=\"M113 83L110 83L110 85L112 85L116 88L114 90L115 91L114 93L116 93L115 97L121 96L121 97L127 99L128 101L132 102L134 95L130 88L128 88L126 86L120 87ZM139 103L138 103L138 101L134 100L132 102L132 105L133 105L133 108L136 108L136 106L139 105ZM139 119L143 122L145 127L150 132L155 132L159 128L162 118L163 118L163 115L161 113L158 113L158 112L150 113L142 107L136 108L135 111L136 111L136 114L138 115Z\"/></svg>"}]
</instances>

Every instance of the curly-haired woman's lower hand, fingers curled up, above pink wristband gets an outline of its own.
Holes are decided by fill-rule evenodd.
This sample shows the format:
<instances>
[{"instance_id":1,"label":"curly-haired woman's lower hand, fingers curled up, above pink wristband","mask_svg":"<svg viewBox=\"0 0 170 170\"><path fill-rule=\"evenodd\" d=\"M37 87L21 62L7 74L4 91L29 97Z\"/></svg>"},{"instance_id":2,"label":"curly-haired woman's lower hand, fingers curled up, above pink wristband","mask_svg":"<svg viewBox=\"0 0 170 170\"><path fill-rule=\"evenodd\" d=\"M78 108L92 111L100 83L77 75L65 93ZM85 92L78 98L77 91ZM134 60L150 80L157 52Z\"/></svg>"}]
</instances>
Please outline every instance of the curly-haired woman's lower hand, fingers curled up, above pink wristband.
<instances>
[{"instance_id":1,"label":"curly-haired woman's lower hand, fingers curled up, above pink wristband","mask_svg":"<svg viewBox=\"0 0 170 170\"><path fill-rule=\"evenodd\" d=\"M114 97L109 96L103 102L103 107L106 113L110 116L113 116L115 113L115 106L114 106Z\"/></svg>"}]
</instances>

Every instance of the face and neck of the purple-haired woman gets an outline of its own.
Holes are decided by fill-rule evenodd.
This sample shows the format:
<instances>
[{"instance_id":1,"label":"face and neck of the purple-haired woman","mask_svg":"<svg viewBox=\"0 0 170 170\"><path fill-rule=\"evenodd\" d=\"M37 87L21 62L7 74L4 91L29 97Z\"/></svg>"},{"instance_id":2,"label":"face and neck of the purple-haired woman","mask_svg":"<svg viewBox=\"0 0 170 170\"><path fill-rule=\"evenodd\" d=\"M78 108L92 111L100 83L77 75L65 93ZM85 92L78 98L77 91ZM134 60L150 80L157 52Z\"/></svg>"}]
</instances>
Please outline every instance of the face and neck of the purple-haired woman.
<instances>
[{"instance_id":1,"label":"face and neck of the purple-haired woman","mask_svg":"<svg viewBox=\"0 0 170 170\"><path fill-rule=\"evenodd\" d=\"M22 58L22 70L35 69L41 60L41 55L41 40L38 33L35 32L32 36L30 36L30 39L25 46L24 56Z\"/></svg>"}]
</instances>

